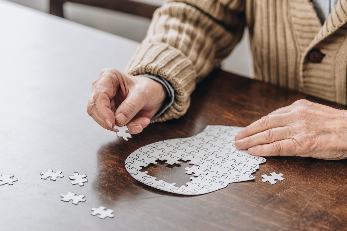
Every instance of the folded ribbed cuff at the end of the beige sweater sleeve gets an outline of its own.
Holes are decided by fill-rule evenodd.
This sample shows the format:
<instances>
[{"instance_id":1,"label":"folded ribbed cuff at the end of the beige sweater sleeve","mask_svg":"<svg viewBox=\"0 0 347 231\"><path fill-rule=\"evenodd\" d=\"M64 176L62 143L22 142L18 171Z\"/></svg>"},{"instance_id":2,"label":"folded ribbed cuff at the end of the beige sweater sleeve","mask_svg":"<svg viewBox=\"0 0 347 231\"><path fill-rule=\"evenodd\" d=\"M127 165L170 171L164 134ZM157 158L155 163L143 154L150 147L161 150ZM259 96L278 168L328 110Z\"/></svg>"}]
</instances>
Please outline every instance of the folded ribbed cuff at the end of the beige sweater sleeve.
<instances>
[{"instance_id":1,"label":"folded ribbed cuff at the end of the beige sweater sleeve","mask_svg":"<svg viewBox=\"0 0 347 231\"><path fill-rule=\"evenodd\" d=\"M143 43L137 48L125 72L131 75L159 75L174 88L174 102L163 114L152 119L152 122L179 118L187 112L190 95L195 89L196 71L192 61L180 50L166 43Z\"/></svg>"}]
</instances>

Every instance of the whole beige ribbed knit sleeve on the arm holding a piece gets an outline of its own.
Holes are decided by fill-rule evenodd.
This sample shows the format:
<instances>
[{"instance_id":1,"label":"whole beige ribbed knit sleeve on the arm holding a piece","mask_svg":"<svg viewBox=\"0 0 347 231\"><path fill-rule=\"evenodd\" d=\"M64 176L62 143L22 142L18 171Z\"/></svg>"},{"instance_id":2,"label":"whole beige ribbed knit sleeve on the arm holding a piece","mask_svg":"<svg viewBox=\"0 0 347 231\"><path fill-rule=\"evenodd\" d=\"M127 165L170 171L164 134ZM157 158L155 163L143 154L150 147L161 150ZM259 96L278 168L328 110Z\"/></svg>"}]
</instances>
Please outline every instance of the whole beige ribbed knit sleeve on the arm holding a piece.
<instances>
[{"instance_id":1,"label":"whole beige ribbed knit sleeve on the arm holding a piece","mask_svg":"<svg viewBox=\"0 0 347 231\"><path fill-rule=\"evenodd\" d=\"M169 0L155 11L147 36L126 71L151 73L175 89L174 103L154 122L184 115L197 82L242 38L245 1Z\"/></svg>"}]
</instances>

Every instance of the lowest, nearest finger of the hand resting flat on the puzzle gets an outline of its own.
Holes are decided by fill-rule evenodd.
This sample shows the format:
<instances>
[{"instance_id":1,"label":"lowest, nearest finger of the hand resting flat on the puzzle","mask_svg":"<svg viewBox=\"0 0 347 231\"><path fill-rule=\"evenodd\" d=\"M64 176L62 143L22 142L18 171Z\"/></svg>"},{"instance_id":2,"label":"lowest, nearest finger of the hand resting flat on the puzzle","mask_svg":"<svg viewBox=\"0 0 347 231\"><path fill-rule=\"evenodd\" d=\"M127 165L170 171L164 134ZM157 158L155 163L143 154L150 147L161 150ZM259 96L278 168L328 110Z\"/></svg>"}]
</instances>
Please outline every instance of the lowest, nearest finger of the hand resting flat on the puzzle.
<instances>
[{"instance_id":1,"label":"lowest, nearest finger of the hand resting flat on the puzzle","mask_svg":"<svg viewBox=\"0 0 347 231\"><path fill-rule=\"evenodd\" d=\"M275 141L270 144L257 145L248 149L253 156L296 156L298 154L298 143L295 139Z\"/></svg>"}]
</instances>

